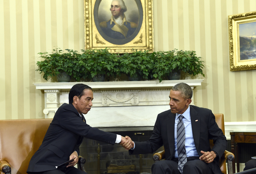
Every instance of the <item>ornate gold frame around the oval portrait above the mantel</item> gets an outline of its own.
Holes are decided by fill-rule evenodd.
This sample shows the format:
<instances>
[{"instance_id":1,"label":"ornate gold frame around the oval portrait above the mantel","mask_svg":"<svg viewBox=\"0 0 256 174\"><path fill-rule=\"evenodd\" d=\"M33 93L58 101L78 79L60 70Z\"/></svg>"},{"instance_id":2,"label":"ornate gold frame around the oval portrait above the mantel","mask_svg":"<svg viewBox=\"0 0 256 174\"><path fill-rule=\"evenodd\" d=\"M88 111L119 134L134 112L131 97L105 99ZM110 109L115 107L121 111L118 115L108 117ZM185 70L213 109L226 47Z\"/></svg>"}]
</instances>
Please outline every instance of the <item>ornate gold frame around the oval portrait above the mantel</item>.
<instances>
[{"instance_id":1,"label":"ornate gold frame around the oval portrait above the mantel","mask_svg":"<svg viewBox=\"0 0 256 174\"><path fill-rule=\"evenodd\" d=\"M110 48L111 52L124 53L136 50L153 52L153 2L152 0L135 0L141 2L143 18L141 27L135 37L125 44L113 44L102 37L94 21L94 8L101 0L84 0L84 40L85 49ZM96 4L96 5L95 5ZM110 7L110 6L109 6ZM140 12L140 11L139 11ZM139 22L140 23L140 22ZM102 32L101 32L102 33Z\"/></svg>"}]
</instances>

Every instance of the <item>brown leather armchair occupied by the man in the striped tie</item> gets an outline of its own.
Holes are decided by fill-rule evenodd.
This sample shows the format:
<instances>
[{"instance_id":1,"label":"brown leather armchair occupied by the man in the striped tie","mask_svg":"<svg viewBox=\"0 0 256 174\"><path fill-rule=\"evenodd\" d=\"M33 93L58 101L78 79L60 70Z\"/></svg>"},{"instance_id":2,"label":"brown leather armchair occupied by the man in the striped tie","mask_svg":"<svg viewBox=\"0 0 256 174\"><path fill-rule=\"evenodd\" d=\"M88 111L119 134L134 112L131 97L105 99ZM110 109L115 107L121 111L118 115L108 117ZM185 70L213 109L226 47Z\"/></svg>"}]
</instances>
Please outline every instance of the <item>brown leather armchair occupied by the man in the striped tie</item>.
<instances>
[{"instance_id":1,"label":"brown leather armchair occupied by the man in the striped tie","mask_svg":"<svg viewBox=\"0 0 256 174\"><path fill-rule=\"evenodd\" d=\"M215 120L216 123L218 124L219 128L221 128L223 134L225 135L225 126L224 126L224 115L223 114L214 114L215 115ZM210 146L211 148L213 147L213 141L210 140ZM165 159L165 151L159 151L153 155L153 160L155 162L158 162L159 160ZM233 174L233 167L232 167L232 161L235 159L235 156L233 153L229 151L225 151L220 158L220 170L222 173L227 174L227 169L226 169L226 160L228 163L228 173Z\"/></svg>"}]
</instances>

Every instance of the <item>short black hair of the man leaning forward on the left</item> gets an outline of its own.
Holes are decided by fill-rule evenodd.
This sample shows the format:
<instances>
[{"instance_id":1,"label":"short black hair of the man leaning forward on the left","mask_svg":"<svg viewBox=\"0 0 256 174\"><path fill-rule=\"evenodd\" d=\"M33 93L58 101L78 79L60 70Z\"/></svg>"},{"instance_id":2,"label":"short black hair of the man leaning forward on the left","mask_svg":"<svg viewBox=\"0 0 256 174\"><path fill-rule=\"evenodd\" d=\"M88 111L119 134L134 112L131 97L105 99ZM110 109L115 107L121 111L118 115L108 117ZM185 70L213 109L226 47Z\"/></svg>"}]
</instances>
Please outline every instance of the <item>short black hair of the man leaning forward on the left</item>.
<instances>
[{"instance_id":1,"label":"short black hair of the man leaning forward on the left","mask_svg":"<svg viewBox=\"0 0 256 174\"><path fill-rule=\"evenodd\" d=\"M69 91L69 104L73 103L74 96L78 96L78 98L80 99L80 97L84 95L84 89L92 90L91 87L89 87L88 85L84 85L82 83L73 85L73 87Z\"/></svg>"}]
</instances>

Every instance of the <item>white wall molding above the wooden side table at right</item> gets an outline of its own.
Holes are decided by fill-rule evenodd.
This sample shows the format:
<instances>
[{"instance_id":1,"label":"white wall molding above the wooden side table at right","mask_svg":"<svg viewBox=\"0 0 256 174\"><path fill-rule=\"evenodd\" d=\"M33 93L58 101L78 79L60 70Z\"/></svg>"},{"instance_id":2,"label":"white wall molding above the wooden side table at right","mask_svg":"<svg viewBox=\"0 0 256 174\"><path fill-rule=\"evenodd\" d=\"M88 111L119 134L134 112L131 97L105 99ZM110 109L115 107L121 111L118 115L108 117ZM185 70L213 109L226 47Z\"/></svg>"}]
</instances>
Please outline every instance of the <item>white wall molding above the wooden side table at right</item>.
<instances>
[{"instance_id":1,"label":"white wall molding above the wooden side table at right","mask_svg":"<svg viewBox=\"0 0 256 174\"><path fill-rule=\"evenodd\" d=\"M230 132L256 132L256 121L225 122L225 136L230 140Z\"/></svg>"}]
</instances>

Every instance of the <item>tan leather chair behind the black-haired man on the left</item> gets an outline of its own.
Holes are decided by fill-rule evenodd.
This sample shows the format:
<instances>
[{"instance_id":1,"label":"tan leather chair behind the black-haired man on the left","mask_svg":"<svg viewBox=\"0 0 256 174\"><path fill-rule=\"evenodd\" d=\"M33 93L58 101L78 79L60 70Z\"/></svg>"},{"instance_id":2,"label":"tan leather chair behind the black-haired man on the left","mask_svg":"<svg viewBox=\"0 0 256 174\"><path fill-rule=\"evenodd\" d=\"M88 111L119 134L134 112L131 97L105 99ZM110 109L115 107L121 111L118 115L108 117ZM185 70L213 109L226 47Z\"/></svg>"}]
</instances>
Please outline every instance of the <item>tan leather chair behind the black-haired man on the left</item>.
<instances>
[{"instance_id":1,"label":"tan leather chair behind the black-haired man on the left","mask_svg":"<svg viewBox=\"0 0 256 174\"><path fill-rule=\"evenodd\" d=\"M0 171L27 174L31 157L42 144L52 119L0 120ZM85 159L79 157L84 170Z\"/></svg>"}]
</instances>

